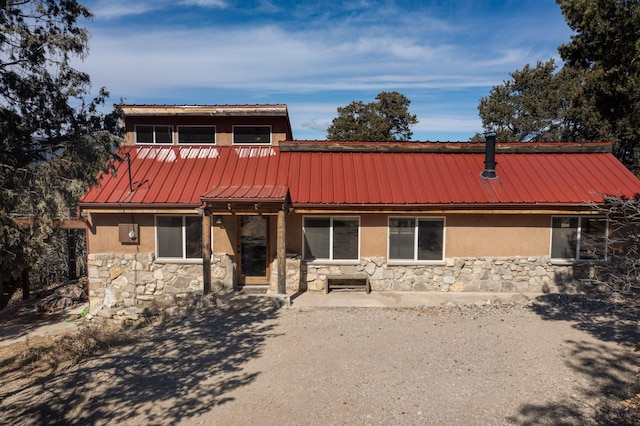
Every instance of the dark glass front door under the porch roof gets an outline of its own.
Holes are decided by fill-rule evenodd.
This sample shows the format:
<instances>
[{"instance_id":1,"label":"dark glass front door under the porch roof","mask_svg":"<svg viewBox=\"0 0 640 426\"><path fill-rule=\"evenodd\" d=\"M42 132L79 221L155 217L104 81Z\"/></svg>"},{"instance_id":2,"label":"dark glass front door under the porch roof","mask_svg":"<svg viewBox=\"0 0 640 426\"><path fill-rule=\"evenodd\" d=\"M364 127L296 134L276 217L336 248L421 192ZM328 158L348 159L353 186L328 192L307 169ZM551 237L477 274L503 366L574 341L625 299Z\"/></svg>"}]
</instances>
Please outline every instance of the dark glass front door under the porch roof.
<instances>
[{"instance_id":1,"label":"dark glass front door under the porch roof","mask_svg":"<svg viewBox=\"0 0 640 426\"><path fill-rule=\"evenodd\" d=\"M240 216L240 284L268 284L268 221Z\"/></svg>"}]
</instances>

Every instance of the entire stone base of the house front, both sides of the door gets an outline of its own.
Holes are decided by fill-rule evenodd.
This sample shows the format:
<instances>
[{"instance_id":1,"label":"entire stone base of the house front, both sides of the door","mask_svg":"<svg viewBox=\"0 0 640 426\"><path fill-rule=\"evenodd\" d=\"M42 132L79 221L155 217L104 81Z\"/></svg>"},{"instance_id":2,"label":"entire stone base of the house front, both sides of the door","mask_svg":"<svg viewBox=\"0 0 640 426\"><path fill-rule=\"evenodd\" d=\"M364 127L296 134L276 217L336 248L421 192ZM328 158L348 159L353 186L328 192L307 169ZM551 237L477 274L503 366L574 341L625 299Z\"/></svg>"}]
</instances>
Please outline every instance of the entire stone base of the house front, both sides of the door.
<instances>
[{"instance_id":1,"label":"entire stone base of the house front, both sides of the door","mask_svg":"<svg viewBox=\"0 0 640 426\"><path fill-rule=\"evenodd\" d=\"M270 289L277 291L277 261L271 266ZM558 265L546 256L449 258L441 264L413 265L389 264L383 257L322 265L288 256L286 286L288 293L323 291L327 275L366 274L374 291L560 293L584 291L582 280L595 273L593 264ZM93 315L103 307L120 312L175 306L203 291L201 264L157 262L153 253L90 254L88 276ZM212 256L211 281L215 293L233 290L233 261L228 255Z\"/></svg>"}]
</instances>

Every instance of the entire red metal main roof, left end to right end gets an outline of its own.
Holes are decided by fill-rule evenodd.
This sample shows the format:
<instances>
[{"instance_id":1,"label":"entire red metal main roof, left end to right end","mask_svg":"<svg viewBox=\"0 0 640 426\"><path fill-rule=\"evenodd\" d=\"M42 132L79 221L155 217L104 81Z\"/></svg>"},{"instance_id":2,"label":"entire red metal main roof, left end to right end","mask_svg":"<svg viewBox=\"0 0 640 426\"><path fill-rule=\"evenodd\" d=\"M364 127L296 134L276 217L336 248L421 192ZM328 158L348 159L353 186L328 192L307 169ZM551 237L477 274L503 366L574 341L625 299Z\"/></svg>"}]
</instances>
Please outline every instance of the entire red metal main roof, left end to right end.
<instances>
[{"instance_id":1,"label":"entire red metal main roof, left end to right end","mask_svg":"<svg viewBox=\"0 0 640 426\"><path fill-rule=\"evenodd\" d=\"M125 147L117 176L82 200L90 206L282 201L294 206L576 205L632 197L640 181L609 152L496 155L484 179L479 152L295 151L278 147Z\"/></svg>"}]
</instances>

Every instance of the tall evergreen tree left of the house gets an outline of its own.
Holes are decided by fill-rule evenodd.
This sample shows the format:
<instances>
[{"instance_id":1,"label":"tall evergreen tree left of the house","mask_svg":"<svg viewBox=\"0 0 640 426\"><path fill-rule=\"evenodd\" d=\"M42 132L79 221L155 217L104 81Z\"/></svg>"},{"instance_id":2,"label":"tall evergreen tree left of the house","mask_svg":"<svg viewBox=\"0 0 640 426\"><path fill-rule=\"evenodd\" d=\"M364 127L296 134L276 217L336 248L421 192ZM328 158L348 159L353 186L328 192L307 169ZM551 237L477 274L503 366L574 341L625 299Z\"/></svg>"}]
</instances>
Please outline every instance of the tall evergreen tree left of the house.
<instances>
[{"instance_id":1,"label":"tall evergreen tree left of the house","mask_svg":"<svg viewBox=\"0 0 640 426\"><path fill-rule=\"evenodd\" d=\"M75 0L7 0L0 9L0 279L30 268L53 221L72 215L119 143L118 114L86 100L91 17Z\"/></svg>"}]
</instances>

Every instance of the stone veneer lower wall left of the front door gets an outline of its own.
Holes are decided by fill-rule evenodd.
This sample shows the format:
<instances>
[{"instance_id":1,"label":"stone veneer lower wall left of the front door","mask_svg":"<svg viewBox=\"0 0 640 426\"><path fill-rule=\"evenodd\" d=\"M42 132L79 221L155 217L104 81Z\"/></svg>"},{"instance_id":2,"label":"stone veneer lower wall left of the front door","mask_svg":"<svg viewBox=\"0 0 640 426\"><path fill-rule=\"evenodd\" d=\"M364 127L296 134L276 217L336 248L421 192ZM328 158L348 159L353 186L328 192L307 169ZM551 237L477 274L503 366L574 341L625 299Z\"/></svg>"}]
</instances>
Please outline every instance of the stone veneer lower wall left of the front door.
<instances>
[{"instance_id":1,"label":"stone veneer lower wall left of the front door","mask_svg":"<svg viewBox=\"0 0 640 426\"><path fill-rule=\"evenodd\" d=\"M188 293L202 293L201 263L156 262L153 253L90 254L87 259L89 300L93 309L173 304ZM233 263L225 254L214 254L211 263L213 291L233 289Z\"/></svg>"}]
</instances>

